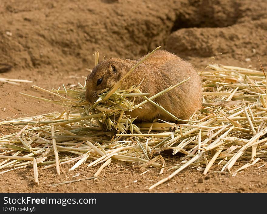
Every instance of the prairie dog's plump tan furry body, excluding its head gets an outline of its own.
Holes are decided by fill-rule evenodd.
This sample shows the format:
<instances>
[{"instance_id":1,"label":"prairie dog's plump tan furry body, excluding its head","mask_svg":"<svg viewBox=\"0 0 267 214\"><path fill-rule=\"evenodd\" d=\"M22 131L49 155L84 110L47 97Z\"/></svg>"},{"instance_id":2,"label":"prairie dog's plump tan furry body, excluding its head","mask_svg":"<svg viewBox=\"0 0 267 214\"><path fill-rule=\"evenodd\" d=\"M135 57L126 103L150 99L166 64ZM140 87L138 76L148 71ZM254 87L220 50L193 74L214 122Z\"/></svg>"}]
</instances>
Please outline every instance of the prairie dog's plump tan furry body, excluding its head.
<instances>
[{"instance_id":1,"label":"prairie dog's plump tan furry body, excluding its head","mask_svg":"<svg viewBox=\"0 0 267 214\"><path fill-rule=\"evenodd\" d=\"M201 79L194 67L177 55L167 51L156 51L137 66L123 86L127 88L139 84L144 79L140 85L140 90L149 92L152 96L189 77L191 78L187 82L154 100L179 119L189 119L190 115L201 108ZM134 111L134 114L131 114L132 116L150 121L157 117L174 121L172 117L161 112L150 103L143 106L143 109Z\"/></svg>"}]
</instances>

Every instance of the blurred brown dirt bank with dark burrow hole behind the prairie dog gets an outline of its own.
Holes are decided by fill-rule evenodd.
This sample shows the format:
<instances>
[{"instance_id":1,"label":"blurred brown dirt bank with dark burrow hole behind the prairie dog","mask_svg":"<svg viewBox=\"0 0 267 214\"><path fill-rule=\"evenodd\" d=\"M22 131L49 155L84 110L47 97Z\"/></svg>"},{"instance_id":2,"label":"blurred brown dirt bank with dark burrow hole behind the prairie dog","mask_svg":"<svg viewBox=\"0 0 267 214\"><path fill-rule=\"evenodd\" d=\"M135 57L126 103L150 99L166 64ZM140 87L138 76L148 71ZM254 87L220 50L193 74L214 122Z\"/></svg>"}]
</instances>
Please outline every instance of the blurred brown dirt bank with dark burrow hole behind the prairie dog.
<instances>
[{"instance_id":1,"label":"blurred brown dirt bank with dark burrow hole behind the prairie dog","mask_svg":"<svg viewBox=\"0 0 267 214\"><path fill-rule=\"evenodd\" d=\"M265 0L2 0L0 63L92 68L92 54L137 59L162 45L204 68L209 57L267 65Z\"/></svg>"}]
</instances>

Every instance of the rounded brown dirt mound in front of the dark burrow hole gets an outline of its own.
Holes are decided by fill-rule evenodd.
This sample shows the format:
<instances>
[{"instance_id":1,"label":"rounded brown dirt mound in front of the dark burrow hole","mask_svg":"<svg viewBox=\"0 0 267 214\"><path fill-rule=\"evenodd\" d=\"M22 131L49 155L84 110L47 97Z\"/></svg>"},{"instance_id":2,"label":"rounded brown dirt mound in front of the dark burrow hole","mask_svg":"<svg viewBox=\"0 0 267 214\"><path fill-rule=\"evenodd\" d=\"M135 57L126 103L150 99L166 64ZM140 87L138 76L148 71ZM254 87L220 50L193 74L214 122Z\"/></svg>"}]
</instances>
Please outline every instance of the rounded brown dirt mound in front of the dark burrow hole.
<instances>
[{"instance_id":1,"label":"rounded brown dirt mound in front of the dark burrow hole","mask_svg":"<svg viewBox=\"0 0 267 214\"><path fill-rule=\"evenodd\" d=\"M173 32L166 48L181 57L211 57L218 53L244 60L266 57L267 19L223 28L184 28Z\"/></svg>"}]
</instances>

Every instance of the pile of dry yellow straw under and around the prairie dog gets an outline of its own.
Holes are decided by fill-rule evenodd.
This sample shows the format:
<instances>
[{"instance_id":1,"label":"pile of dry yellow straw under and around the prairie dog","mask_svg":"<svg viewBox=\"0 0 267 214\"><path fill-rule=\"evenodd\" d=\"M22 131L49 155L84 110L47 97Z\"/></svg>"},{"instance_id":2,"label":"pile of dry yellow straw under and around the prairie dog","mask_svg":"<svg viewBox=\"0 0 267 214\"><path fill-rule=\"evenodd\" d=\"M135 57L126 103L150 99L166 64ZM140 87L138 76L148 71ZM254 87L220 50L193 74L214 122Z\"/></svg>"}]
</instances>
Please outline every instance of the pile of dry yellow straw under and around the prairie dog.
<instances>
[{"instance_id":1,"label":"pile of dry yellow straw under and around the prairie dog","mask_svg":"<svg viewBox=\"0 0 267 214\"><path fill-rule=\"evenodd\" d=\"M202 168L204 174L213 167L231 172L237 160L247 160L247 164L231 172L235 175L266 159L264 71L222 65L209 65L207 69L199 72L203 79L203 109L185 124L167 121L134 124L134 119L125 113L141 107L142 104L134 104L134 97L142 96L144 102L153 103L153 98L148 99L138 85L120 90L119 82L110 91L103 91L90 107L85 102L85 85L80 83L76 89L63 85L63 89L51 91L33 86L59 98L38 99L64 105L66 110L0 122L19 130L0 137L0 174L31 166L38 184L37 166L56 167L59 174L62 164L73 163L69 169L73 170L87 162L88 167L100 167L92 177L95 178L112 159L138 162L142 169L158 167L160 173L164 168L173 171L149 188L152 189L188 166ZM177 157L177 165L172 168L162 153L169 149L173 155L184 154Z\"/></svg>"}]
</instances>

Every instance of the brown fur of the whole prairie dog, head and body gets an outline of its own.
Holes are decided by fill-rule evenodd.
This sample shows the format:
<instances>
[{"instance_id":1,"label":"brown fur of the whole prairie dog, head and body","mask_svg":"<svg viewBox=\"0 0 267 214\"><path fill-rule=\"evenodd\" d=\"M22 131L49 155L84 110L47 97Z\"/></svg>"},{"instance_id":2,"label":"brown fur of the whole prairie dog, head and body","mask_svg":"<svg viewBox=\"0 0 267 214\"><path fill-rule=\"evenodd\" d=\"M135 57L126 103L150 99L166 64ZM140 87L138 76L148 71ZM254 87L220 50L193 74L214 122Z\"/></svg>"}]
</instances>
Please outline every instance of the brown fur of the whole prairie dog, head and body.
<instances>
[{"instance_id":1,"label":"brown fur of the whole prairie dog, head and body","mask_svg":"<svg viewBox=\"0 0 267 214\"><path fill-rule=\"evenodd\" d=\"M136 62L130 59L111 58L96 65L87 76L86 100L95 102L103 89L110 89ZM114 67L116 71L113 71ZM177 55L167 51L156 51L123 80L120 88L129 89L130 86L139 85L144 79L140 85L140 90L144 93L151 93L150 96L153 96L188 77L191 78L187 82L157 97L154 102L179 119L189 119L190 115L201 108L201 79L194 67ZM96 82L100 78L103 79L103 82L97 86ZM143 100L143 98L138 98L135 104ZM127 112L127 114L131 117L138 117L138 120L142 121L153 121L159 118L174 122L172 117L151 103L146 103L142 105L142 109L135 109L132 112Z\"/></svg>"}]
</instances>

